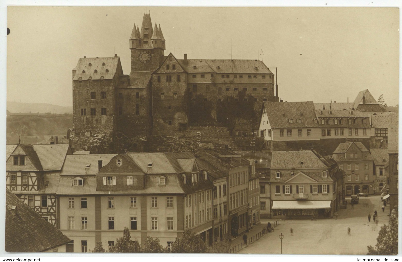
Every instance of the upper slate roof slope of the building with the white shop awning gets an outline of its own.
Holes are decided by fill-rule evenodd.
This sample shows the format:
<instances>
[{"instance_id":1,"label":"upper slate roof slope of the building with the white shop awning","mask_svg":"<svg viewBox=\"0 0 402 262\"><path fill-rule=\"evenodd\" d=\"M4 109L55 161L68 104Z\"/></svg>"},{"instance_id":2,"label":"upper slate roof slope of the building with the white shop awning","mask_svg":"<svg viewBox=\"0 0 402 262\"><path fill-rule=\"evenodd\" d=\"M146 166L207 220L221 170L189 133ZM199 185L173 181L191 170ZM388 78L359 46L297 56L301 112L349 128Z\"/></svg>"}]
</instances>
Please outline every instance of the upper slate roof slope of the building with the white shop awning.
<instances>
[{"instance_id":1,"label":"upper slate roof slope of the building with the white shop awning","mask_svg":"<svg viewBox=\"0 0 402 262\"><path fill-rule=\"evenodd\" d=\"M303 162L303 164L300 164ZM273 169L326 169L327 166L310 150L272 151L271 170Z\"/></svg>"}]
</instances>

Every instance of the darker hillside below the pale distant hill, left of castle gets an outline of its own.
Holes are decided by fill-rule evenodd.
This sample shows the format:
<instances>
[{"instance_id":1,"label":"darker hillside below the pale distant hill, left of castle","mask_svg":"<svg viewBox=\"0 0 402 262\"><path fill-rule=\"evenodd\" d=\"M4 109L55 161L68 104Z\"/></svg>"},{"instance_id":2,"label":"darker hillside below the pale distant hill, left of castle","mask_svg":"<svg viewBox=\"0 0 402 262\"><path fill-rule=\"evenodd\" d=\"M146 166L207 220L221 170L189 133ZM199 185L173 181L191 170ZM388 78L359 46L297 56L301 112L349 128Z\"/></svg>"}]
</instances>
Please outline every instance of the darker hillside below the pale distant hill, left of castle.
<instances>
[{"instance_id":1,"label":"darker hillside below the pale distant hill, left of castle","mask_svg":"<svg viewBox=\"0 0 402 262\"><path fill-rule=\"evenodd\" d=\"M72 128L72 115L7 116L7 143L46 143L50 136L63 138Z\"/></svg>"}]
</instances>

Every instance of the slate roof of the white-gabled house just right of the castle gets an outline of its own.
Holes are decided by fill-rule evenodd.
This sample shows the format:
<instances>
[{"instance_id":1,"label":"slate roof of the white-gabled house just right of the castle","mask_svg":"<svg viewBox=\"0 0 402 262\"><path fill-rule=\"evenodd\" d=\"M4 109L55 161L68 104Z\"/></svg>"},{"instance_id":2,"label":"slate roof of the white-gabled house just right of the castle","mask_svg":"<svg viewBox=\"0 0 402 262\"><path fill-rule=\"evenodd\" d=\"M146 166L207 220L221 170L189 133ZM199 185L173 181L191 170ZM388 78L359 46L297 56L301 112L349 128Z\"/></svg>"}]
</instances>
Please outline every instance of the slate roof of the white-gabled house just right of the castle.
<instances>
[{"instance_id":1,"label":"slate roof of the white-gabled house just right of the castle","mask_svg":"<svg viewBox=\"0 0 402 262\"><path fill-rule=\"evenodd\" d=\"M318 127L313 102L264 102L264 107L272 128ZM300 124L297 119L301 119Z\"/></svg>"}]
</instances>

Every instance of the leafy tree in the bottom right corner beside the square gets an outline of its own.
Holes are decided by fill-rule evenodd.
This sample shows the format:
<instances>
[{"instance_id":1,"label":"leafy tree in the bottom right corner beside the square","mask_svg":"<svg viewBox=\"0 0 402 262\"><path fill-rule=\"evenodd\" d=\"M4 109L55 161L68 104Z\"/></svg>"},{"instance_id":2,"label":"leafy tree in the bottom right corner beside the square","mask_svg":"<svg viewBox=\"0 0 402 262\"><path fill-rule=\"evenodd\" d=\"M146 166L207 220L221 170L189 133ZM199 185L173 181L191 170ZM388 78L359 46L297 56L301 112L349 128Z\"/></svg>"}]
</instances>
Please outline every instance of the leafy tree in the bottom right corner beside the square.
<instances>
[{"instance_id":1,"label":"leafy tree in the bottom right corner beside the square","mask_svg":"<svg viewBox=\"0 0 402 262\"><path fill-rule=\"evenodd\" d=\"M381 227L375 248L367 246L367 255L398 254L398 219L391 217L388 225Z\"/></svg>"}]
</instances>

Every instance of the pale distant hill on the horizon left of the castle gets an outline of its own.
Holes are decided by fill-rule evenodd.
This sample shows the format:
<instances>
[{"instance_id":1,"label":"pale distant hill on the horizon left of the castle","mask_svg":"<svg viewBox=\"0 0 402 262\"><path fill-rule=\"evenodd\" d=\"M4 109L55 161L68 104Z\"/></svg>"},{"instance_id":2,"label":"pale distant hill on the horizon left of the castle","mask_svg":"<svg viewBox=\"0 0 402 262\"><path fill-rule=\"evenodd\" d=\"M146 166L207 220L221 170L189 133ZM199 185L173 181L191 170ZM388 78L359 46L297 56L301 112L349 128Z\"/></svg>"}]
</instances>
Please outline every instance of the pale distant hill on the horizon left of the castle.
<instances>
[{"instance_id":1,"label":"pale distant hill on the horizon left of the castle","mask_svg":"<svg viewBox=\"0 0 402 262\"><path fill-rule=\"evenodd\" d=\"M11 113L73 113L73 107L62 107L59 105L51 105L46 103L20 103L10 101L7 101L7 110Z\"/></svg>"}]
</instances>

